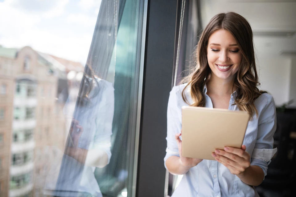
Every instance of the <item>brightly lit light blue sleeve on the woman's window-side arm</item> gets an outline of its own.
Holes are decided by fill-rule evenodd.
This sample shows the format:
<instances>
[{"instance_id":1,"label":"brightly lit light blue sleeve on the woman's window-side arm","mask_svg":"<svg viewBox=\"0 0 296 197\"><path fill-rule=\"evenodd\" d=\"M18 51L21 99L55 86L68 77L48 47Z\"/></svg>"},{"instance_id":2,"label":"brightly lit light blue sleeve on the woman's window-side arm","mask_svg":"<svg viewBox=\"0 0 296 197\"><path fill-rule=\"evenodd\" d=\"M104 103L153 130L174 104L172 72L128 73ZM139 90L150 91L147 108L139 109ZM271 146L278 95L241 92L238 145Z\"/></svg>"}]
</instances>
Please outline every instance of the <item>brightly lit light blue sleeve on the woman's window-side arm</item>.
<instances>
[{"instance_id":1,"label":"brightly lit light blue sleeve on the woman's window-side arm","mask_svg":"<svg viewBox=\"0 0 296 197\"><path fill-rule=\"evenodd\" d=\"M178 106L177 91L179 92L178 87L173 87L170 92L169 102L167 106L167 149L166 156L164 158L164 166L166 166L167 158L171 156L179 156L179 149L177 142L175 140L175 134L181 132L182 122L181 122L181 108ZM180 93L180 92L179 92ZM181 95L181 94L180 94Z\"/></svg>"}]
</instances>

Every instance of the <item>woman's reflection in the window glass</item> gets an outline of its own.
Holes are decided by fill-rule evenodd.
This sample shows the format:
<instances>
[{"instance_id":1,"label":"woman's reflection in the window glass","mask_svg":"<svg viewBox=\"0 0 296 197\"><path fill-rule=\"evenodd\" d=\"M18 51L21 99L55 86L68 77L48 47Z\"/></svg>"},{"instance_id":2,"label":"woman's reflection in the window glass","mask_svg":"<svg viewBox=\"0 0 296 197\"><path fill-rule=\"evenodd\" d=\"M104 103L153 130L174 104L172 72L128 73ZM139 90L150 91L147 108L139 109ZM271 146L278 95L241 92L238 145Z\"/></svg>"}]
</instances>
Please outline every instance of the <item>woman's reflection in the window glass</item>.
<instances>
[{"instance_id":1,"label":"woman's reflection in the window glass","mask_svg":"<svg viewBox=\"0 0 296 197\"><path fill-rule=\"evenodd\" d=\"M91 69L83 79L58 178L47 176L47 195L102 196L94 171L111 157L114 88Z\"/></svg>"}]
</instances>

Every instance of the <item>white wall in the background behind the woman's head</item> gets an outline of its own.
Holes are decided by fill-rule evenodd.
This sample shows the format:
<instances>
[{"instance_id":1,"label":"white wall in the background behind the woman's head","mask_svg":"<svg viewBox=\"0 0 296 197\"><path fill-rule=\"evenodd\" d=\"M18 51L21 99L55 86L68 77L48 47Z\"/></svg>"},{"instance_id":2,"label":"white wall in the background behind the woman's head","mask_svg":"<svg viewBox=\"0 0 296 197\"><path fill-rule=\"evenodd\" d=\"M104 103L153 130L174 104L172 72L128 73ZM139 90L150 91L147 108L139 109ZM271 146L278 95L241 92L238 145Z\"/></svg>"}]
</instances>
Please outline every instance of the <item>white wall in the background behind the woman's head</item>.
<instances>
[{"instance_id":1,"label":"white wall in the background behind the woman's head","mask_svg":"<svg viewBox=\"0 0 296 197\"><path fill-rule=\"evenodd\" d=\"M203 27L214 15L235 11L250 22L254 32L296 31L296 2L292 0L201 0L200 6ZM296 34L255 34L254 45L260 89L272 94L277 106L294 99L290 107L296 107L296 57L281 55L296 51Z\"/></svg>"}]
</instances>

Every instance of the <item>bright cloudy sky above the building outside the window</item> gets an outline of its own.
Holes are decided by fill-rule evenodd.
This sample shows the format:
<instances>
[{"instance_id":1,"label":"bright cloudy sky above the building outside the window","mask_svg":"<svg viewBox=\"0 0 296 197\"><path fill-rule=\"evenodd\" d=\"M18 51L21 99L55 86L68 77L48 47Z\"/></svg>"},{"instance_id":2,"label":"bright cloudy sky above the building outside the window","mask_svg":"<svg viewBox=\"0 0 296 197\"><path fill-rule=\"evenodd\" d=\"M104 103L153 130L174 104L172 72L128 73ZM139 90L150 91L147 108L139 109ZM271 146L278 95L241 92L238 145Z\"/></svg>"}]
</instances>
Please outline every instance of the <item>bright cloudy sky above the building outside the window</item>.
<instances>
[{"instance_id":1,"label":"bright cloudy sky above the building outside the window","mask_svg":"<svg viewBox=\"0 0 296 197\"><path fill-rule=\"evenodd\" d=\"M85 64L101 0L0 0L0 45Z\"/></svg>"}]
</instances>

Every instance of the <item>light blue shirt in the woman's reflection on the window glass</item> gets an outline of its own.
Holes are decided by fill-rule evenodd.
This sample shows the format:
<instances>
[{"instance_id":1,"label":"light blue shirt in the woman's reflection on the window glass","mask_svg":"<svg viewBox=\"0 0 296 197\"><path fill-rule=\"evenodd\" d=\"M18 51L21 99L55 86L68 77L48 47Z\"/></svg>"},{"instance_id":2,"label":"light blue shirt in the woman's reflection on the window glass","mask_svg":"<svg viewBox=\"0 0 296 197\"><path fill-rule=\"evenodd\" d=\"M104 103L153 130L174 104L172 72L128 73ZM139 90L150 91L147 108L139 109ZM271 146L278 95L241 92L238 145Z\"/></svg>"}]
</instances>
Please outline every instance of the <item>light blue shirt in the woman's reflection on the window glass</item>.
<instances>
[{"instance_id":1,"label":"light blue shirt in the woman's reflection on the window glass","mask_svg":"<svg viewBox=\"0 0 296 197\"><path fill-rule=\"evenodd\" d=\"M111 158L111 135L114 114L114 88L112 83L100 78L95 78L87 105L78 106L80 112L76 117L84 128L80 136L78 147L88 150L103 150L108 155L108 163ZM92 80L88 78L88 80ZM86 88L86 87L85 87ZM67 101L64 114L68 115ZM70 113L70 115L72 115ZM61 131L64 132L64 131ZM98 155L87 155L85 163L79 163L74 158L64 154L62 160L56 166L52 166L47 174L43 193L64 197L80 196L75 192L83 192L87 196L101 197L101 191L94 175L95 166L91 159ZM88 159L89 158L89 159ZM58 162L57 162L58 163Z\"/></svg>"}]
</instances>

